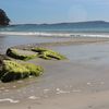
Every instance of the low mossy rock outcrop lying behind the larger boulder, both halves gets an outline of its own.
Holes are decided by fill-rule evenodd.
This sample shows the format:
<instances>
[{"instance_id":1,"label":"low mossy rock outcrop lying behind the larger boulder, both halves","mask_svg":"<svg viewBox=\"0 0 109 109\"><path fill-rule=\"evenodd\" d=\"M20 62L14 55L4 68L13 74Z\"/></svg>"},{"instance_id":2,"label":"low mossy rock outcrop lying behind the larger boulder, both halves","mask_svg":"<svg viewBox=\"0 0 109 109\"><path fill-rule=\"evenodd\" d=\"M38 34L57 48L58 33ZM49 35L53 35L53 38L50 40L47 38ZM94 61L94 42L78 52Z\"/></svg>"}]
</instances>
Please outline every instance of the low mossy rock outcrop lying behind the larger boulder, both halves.
<instances>
[{"instance_id":1,"label":"low mossy rock outcrop lying behind the larger boulder, both halves","mask_svg":"<svg viewBox=\"0 0 109 109\"><path fill-rule=\"evenodd\" d=\"M63 59L66 59L64 56L60 55L59 52L56 52L53 50L46 49L46 48L43 48L43 47L33 48L32 51L9 48L7 50L7 55L11 58L20 59L20 60L24 60L24 61L29 60L29 59L34 59L36 57L41 58L41 59L46 59L46 60L51 60L51 59L63 60Z\"/></svg>"}]
</instances>

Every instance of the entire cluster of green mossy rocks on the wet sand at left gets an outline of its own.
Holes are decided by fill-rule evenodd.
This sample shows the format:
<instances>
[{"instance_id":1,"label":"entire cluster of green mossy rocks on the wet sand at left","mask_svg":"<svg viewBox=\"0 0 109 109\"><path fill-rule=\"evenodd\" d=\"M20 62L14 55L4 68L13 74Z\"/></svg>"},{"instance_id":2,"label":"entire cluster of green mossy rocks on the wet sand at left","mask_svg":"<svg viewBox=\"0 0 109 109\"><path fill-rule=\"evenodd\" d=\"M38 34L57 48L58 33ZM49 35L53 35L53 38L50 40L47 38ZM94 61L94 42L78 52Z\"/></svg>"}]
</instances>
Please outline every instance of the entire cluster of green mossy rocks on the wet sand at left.
<instances>
[{"instance_id":1,"label":"entire cluster of green mossy rocks on the wet sand at left","mask_svg":"<svg viewBox=\"0 0 109 109\"><path fill-rule=\"evenodd\" d=\"M8 56L11 58L9 58ZM43 47L33 48L31 49L31 51L9 48L7 50L7 56L0 57L0 80L7 83L7 82L26 78L29 76L39 76L44 72L44 69L41 66L24 62L25 60L29 60L36 57L46 60L66 59L64 56L60 55L59 52ZM24 61L13 60L12 58L24 60Z\"/></svg>"}]
</instances>

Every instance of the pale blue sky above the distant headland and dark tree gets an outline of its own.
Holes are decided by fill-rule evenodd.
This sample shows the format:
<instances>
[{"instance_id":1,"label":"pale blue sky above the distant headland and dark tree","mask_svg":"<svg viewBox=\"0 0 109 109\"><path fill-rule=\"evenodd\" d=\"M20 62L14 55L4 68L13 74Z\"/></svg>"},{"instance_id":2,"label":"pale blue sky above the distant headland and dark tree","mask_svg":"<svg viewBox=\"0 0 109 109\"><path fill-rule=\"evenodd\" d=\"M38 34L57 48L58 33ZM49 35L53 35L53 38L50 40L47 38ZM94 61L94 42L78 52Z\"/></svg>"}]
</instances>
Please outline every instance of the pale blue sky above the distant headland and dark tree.
<instances>
[{"instance_id":1,"label":"pale blue sky above the distant headland and dark tree","mask_svg":"<svg viewBox=\"0 0 109 109\"><path fill-rule=\"evenodd\" d=\"M109 0L0 0L12 23L109 21Z\"/></svg>"}]
</instances>

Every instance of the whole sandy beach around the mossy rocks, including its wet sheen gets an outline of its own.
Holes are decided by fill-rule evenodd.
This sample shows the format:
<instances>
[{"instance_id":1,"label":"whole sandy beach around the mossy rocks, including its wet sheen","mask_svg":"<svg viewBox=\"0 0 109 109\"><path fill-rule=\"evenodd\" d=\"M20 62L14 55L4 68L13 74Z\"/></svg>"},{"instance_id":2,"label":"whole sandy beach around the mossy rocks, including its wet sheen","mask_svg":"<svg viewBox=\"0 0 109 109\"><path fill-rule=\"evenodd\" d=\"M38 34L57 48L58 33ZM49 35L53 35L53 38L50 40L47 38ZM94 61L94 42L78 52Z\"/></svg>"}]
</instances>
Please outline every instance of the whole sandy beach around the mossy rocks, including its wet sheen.
<instances>
[{"instance_id":1,"label":"whole sandy beach around the mossy rocks, including its wet sheen","mask_svg":"<svg viewBox=\"0 0 109 109\"><path fill-rule=\"evenodd\" d=\"M109 109L109 39L60 40L16 47L45 46L69 60L29 60L44 66L44 75L0 83L1 109Z\"/></svg>"}]
</instances>

